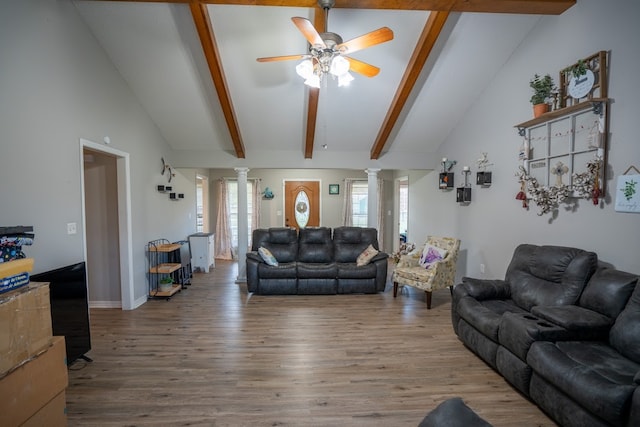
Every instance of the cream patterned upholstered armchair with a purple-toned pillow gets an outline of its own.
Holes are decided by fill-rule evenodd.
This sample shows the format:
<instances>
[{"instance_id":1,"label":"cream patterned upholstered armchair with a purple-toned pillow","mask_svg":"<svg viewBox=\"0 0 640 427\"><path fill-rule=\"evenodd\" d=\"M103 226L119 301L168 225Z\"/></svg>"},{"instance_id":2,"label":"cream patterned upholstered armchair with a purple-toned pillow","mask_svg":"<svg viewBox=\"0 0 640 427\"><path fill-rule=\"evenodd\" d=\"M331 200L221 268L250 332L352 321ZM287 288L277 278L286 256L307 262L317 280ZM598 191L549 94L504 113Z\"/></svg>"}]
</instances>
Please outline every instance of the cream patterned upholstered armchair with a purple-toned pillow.
<instances>
[{"instance_id":1,"label":"cream patterned upholstered armchair with a purple-toned pillow","mask_svg":"<svg viewBox=\"0 0 640 427\"><path fill-rule=\"evenodd\" d=\"M399 285L413 286L425 291L430 309L431 292L455 282L459 250L459 239L428 236L423 247L400 257L393 270L393 297L397 296Z\"/></svg>"}]
</instances>

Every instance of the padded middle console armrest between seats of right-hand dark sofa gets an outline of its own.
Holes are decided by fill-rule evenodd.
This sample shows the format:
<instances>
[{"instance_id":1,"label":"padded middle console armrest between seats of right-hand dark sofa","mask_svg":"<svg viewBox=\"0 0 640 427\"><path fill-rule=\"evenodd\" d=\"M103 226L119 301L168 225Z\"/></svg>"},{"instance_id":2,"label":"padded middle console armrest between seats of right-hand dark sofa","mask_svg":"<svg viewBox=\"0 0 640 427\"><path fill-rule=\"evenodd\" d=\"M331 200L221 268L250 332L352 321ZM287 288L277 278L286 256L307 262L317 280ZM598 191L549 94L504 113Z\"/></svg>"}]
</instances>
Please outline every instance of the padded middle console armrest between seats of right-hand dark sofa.
<instances>
[{"instance_id":1,"label":"padded middle console armrest between seats of right-hand dark sofa","mask_svg":"<svg viewBox=\"0 0 640 427\"><path fill-rule=\"evenodd\" d=\"M531 313L541 319L562 326L571 339L606 340L614 320L577 305L535 306Z\"/></svg>"}]
</instances>

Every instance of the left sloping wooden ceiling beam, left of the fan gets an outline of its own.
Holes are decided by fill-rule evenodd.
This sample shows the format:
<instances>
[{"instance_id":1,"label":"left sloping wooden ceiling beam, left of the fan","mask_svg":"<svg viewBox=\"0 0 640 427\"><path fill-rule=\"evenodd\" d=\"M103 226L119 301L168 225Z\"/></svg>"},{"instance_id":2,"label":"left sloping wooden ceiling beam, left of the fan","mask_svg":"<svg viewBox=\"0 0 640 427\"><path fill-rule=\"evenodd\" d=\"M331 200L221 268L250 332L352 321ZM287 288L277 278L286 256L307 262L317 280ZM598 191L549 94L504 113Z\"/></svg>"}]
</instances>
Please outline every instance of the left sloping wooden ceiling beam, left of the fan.
<instances>
[{"instance_id":1,"label":"left sloping wooden ceiling beam, left of the fan","mask_svg":"<svg viewBox=\"0 0 640 427\"><path fill-rule=\"evenodd\" d=\"M209 66L213 85L218 93L218 99L220 100L224 119L227 122L227 128L229 129L231 141L233 142L233 147L236 151L236 157L244 159L245 150L244 144L242 143L242 136L240 134L240 127L238 126L238 120L236 119L233 103L231 102L231 96L229 95L227 79L225 78L224 70L222 69L220 52L218 52L213 28L211 27L211 20L209 19L207 5L193 2L189 3L189 8L191 9L191 16L193 17L193 22L196 25L196 30L198 31L198 37L200 37L204 56L207 59L207 65Z\"/></svg>"}]
</instances>

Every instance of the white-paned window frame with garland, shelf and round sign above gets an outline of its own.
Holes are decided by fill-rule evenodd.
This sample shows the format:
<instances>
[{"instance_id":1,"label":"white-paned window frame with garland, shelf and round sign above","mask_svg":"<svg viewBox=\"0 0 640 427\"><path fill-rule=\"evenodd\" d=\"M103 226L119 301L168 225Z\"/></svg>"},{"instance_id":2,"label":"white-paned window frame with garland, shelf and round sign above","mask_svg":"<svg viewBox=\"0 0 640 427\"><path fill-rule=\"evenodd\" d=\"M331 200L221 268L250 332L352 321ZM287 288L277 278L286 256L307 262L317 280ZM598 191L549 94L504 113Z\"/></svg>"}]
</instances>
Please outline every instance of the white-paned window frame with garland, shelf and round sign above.
<instances>
[{"instance_id":1,"label":"white-paned window frame with garland, shelf and round sign above","mask_svg":"<svg viewBox=\"0 0 640 427\"><path fill-rule=\"evenodd\" d=\"M523 138L518 153L516 200L538 215L571 199L604 196L608 137L607 52L600 51L560 71L558 108L516 125Z\"/></svg>"}]
</instances>

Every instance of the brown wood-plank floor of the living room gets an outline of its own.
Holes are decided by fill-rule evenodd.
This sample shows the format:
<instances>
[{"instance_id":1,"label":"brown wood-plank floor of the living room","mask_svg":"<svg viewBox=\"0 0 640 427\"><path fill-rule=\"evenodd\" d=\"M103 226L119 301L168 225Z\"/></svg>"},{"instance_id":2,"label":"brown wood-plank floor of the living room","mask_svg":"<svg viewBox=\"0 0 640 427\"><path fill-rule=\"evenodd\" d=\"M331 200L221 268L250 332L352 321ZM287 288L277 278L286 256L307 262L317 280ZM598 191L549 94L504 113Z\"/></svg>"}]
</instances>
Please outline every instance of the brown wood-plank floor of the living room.
<instances>
[{"instance_id":1,"label":"brown wood-plank floor of the living room","mask_svg":"<svg viewBox=\"0 0 640 427\"><path fill-rule=\"evenodd\" d=\"M250 296L216 261L170 301L91 310L70 426L417 426L460 396L495 426L555 426L467 350L450 295Z\"/></svg>"}]
</instances>

